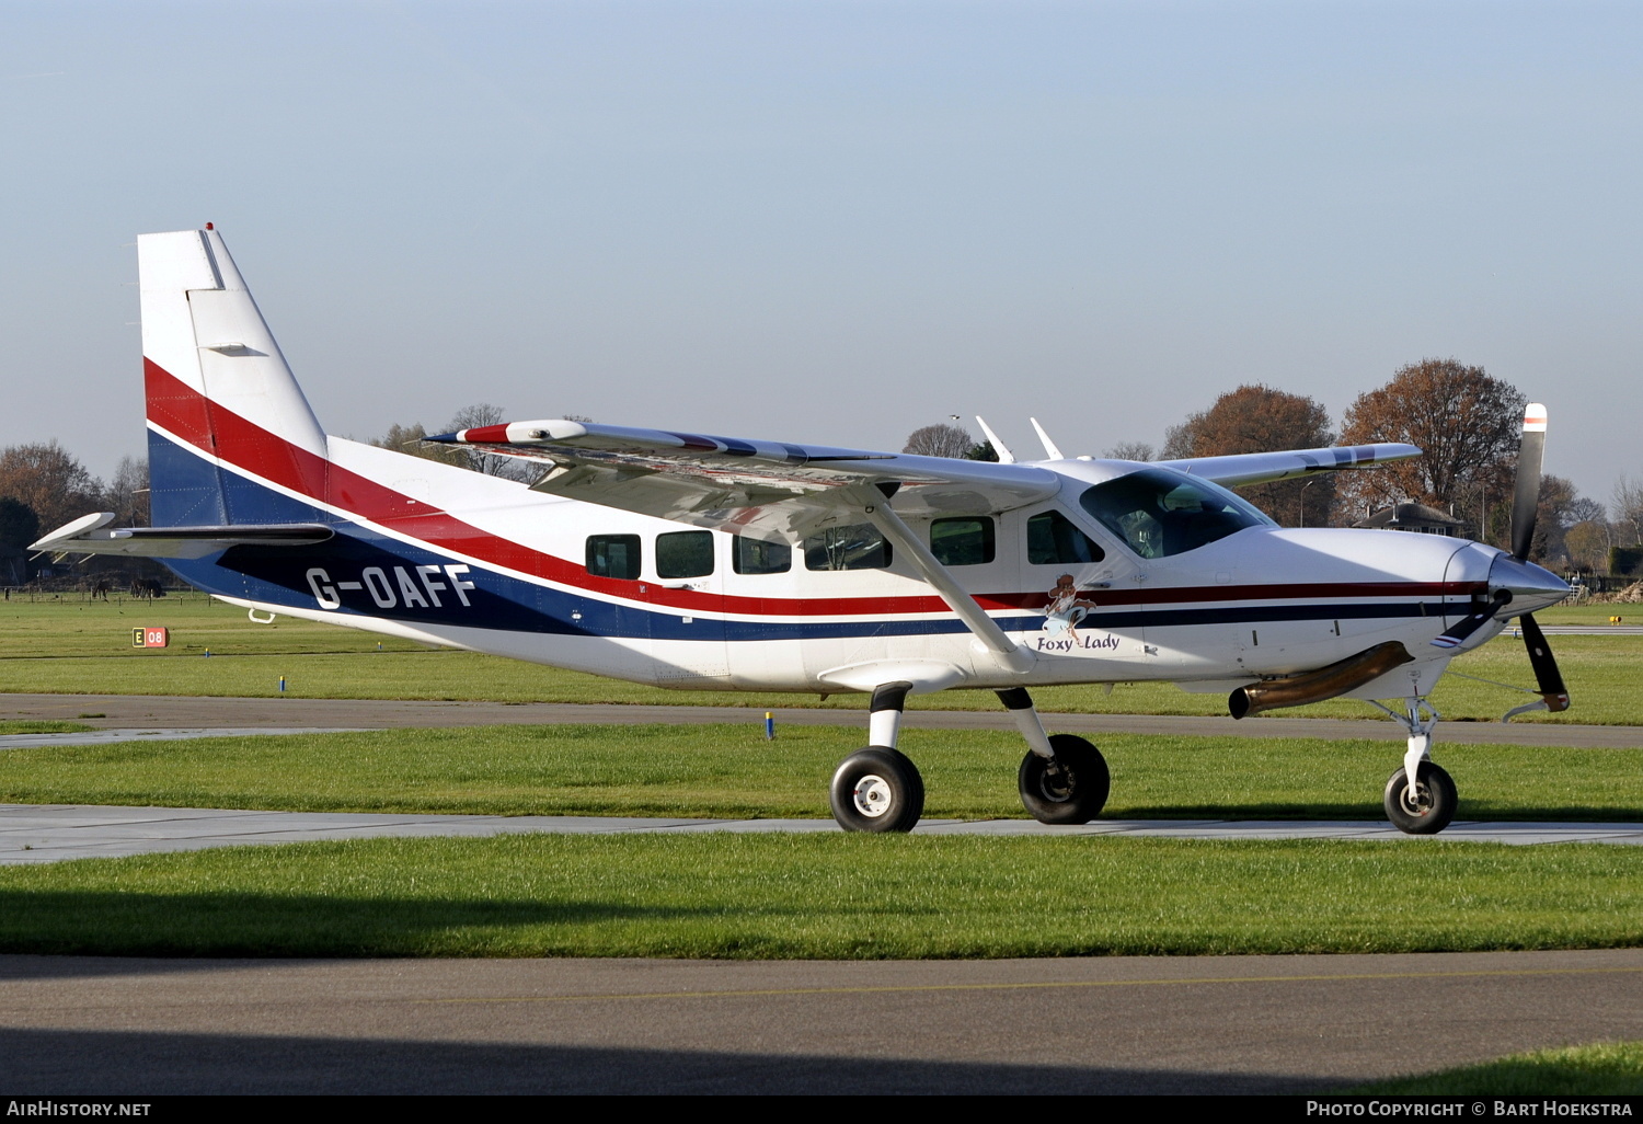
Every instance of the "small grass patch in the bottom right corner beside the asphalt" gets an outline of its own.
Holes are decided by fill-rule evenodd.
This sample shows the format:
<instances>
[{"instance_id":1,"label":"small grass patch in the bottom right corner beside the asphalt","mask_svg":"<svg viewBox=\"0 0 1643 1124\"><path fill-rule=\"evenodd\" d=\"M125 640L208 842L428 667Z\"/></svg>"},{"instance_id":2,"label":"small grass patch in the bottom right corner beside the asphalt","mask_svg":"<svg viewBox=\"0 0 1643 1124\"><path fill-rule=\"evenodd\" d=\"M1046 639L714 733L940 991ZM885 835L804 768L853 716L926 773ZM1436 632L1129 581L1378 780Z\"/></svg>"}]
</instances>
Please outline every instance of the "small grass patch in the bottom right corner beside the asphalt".
<instances>
[{"instance_id":1,"label":"small grass patch in the bottom right corner beside the asphalt","mask_svg":"<svg viewBox=\"0 0 1643 1124\"><path fill-rule=\"evenodd\" d=\"M1342 1091L1405 1096L1638 1096L1643 1094L1643 1042L1600 1042L1513 1053L1482 1065Z\"/></svg>"}]
</instances>

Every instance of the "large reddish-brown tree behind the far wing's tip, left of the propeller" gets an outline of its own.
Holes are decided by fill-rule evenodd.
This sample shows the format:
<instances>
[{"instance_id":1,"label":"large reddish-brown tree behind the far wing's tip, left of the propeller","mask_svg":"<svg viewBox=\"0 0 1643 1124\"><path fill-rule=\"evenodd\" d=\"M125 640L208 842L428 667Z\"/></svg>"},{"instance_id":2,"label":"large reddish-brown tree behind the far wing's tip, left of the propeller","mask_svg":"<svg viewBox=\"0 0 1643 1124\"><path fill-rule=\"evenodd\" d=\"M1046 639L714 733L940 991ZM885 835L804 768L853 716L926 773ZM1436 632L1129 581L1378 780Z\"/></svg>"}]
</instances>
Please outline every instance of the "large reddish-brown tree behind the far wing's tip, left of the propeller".
<instances>
[{"instance_id":1,"label":"large reddish-brown tree behind the far wing's tip, left of the propeller","mask_svg":"<svg viewBox=\"0 0 1643 1124\"><path fill-rule=\"evenodd\" d=\"M1410 363L1360 394L1344 417L1342 445L1400 440L1424 457L1341 473L1346 523L1393 503L1424 503L1466 519L1484 542L1503 544L1512 518L1525 398L1482 366L1454 358Z\"/></svg>"}]
</instances>

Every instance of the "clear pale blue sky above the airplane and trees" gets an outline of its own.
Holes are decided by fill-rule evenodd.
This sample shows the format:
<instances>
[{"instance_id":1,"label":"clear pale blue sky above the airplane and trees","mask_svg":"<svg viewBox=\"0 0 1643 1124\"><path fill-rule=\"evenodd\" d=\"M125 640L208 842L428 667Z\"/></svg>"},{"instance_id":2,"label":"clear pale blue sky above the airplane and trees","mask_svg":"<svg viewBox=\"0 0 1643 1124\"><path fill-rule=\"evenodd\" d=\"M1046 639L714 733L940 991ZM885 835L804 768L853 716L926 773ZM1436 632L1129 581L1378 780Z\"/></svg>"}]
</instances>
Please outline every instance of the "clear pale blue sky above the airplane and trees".
<instances>
[{"instance_id":1,"label":"clear pale blue sky above the airplane and trees","mask_svg":"<svg viewBox=\"0 0 1643 1124\"><path fill-rule=\"evenodd\" d=\"M332 432L1099 454L1452 355L1607 500L1640 48L1643 5L0 3L0 444L141 450L130 243L215 220Z\"/></svg>"}]
</instances>

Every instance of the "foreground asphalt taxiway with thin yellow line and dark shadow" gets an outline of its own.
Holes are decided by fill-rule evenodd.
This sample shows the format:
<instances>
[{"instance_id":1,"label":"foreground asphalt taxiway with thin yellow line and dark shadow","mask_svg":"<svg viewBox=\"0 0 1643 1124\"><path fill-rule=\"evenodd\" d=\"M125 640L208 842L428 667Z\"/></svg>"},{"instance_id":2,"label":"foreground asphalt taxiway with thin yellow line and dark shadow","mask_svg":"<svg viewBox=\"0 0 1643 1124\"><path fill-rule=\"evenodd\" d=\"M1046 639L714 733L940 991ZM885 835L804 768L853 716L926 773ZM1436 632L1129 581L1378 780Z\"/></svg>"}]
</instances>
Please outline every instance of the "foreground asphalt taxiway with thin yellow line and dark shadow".
<instances>
[{"instance_id":1,"label":"foreground asphalt taxiway with thin yellow line and dark shadow","mask_svg":"<svg viewBox=\"0 0 1643 1124\"><path fill-rule=\"evenodd\" d=\"M1314 1093L1643 1037L1643 951L0 956L12 1094Z\"/></svg>"}]
</instances>

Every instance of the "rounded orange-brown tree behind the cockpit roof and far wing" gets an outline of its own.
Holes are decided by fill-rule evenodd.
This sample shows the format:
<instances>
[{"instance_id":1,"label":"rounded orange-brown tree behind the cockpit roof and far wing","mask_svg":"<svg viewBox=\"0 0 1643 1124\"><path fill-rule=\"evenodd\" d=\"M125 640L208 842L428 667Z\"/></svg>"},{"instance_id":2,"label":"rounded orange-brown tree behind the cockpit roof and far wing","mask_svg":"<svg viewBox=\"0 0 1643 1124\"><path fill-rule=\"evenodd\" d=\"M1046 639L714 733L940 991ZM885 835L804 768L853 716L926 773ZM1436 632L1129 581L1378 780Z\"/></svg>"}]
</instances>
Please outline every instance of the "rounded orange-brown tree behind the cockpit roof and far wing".
<instances>
[{"instance_id":1,"label":"rounded orange-brown tree behind the cockpit roof and far wing","mask_svg":"<svg viewBox=\"0 0 1643 1124\"><path fill-rule=\"evenodd\" d=\"M1193 414L1165 435L1165 460L1227 457L1286 449L1323 449L1334 440L1329 411L1311 398L1270 386L1239 386ZM1286 527L1321 527L1334 503L1336 473L1306 480L1278 480L1239 488L1257 508Z\"/></svg>"}]
</instances>

